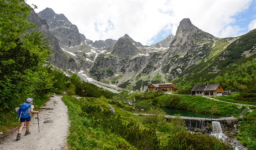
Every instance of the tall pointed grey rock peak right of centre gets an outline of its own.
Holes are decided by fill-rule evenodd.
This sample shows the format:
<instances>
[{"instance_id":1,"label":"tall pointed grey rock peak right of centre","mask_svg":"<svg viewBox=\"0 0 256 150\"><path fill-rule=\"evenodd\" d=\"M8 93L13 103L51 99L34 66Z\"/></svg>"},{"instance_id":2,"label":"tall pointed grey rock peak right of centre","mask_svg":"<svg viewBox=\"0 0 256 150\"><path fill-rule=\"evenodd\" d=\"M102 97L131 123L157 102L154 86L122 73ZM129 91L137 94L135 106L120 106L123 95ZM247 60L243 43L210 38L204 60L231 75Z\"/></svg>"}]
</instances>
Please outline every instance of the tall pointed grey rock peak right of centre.
<instances>
[{"instance_id":1,"label":"tall pointed grey rock peak right of centre","mask_svg":"<svg viewBox=\"0 0 256 150\"><path fill-rule=\"evenodd\" d=\"M218 39L198 29L188 18L181 20L169 50L162 56L162 71L168 73L169 78L176 78L189 66L209 55Z\"/></svg>"}]
</instances>

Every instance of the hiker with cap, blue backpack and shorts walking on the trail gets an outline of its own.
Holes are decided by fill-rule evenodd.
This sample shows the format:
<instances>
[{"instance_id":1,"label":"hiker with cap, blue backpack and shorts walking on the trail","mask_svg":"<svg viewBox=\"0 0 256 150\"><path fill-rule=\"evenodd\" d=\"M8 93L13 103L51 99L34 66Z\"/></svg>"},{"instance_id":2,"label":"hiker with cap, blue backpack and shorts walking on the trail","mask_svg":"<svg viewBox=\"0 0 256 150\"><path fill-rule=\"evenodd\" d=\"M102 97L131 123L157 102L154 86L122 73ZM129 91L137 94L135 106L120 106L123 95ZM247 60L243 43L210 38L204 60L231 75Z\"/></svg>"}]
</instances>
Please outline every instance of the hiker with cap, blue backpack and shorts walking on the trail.
<instances>
[{"instance_id":1,"label":"hiker with cap, blue backpack and shorts walking on the trail","mask_svg":"<svg viewBox=\"0 0 256 150\"><path fill-rule=\"evenodd\" d=\"M33 101L34 100L32 98L28 98L25 103L21 104L21 105L28 105L28 109L27 109L26 114L29 114L29 115L28 115L27 118L23 118L22 116L20 117L21 118L21 125L20 125L20 128L19 128L16 140L21 140L21 131L22 131L23 126L25 125L25 121L27 121L25 135L30 134L30 132L29 132L29 122L31 120L31 113L39 113L39 111L33 110L33 108L34 108L34 105L32 105Z\"/></svg>"}]
</instances>

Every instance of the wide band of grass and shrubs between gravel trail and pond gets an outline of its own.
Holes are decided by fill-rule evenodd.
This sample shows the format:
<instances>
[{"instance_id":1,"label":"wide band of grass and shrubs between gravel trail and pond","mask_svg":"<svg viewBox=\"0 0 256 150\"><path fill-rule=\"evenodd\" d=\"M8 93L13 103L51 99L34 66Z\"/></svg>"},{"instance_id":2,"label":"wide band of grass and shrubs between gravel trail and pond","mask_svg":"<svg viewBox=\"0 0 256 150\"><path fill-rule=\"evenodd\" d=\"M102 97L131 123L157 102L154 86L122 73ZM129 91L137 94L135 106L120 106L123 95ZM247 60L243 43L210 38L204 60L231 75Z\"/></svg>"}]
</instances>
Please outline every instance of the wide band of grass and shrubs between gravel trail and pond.
<instances>
[{"instance_id":1,"label":"wide band of grass and shrubs between gravel trail and pond","mask_svg":"<svg viewBox=\"0 0 256 150\"><path fill-rule=\"evenodd\" d=\"M208 135L193 135L182 130L182 121L169 124L154 117L145 118L143 122L142 118L132 115L131 106L119 101L67 96L62 100L68 106L70 150L196 150L198 145L202 150L232 149ZM115 113L108 104L113 106ZM186 140L181 140L183 135L187 136Z\"/></svg>"}]
</instances>

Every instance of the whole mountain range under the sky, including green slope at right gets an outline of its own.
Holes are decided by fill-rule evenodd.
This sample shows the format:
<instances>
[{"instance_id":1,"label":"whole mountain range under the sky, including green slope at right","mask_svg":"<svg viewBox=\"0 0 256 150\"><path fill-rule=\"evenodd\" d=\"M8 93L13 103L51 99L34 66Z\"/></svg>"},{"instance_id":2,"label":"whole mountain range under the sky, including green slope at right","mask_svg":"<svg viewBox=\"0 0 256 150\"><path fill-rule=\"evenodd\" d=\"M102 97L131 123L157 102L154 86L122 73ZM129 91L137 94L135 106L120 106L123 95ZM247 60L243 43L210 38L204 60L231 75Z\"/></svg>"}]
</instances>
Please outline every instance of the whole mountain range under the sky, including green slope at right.
<instances>
[{"instance_id":1,"label":"whole mountain range under the sky, including green slope at right","mask_svg":"<svg viewBox=\"0 0 256 150\"><path fill-rule=\"evenodd\" d=\"M130 90L145 91L150 83L210 80L255 57L256 40L247 38L255 30L240 37L218 38L183 19L175 36L145 46L127 34L117 41L92 42L63 14L49 8L38 14L48 20L49 31L69 61L78 64L77 73L82 70L95 80Z\"/></svg>"}]
</instances>

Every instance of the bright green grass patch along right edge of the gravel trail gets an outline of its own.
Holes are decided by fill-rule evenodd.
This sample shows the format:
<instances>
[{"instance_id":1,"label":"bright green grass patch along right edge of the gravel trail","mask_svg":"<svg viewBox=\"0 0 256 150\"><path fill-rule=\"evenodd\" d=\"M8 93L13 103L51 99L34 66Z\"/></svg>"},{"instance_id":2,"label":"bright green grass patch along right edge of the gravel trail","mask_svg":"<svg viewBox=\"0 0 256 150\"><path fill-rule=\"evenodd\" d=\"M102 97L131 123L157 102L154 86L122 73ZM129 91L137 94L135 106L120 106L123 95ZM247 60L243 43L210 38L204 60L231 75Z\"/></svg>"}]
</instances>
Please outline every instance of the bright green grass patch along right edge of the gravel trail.
<instances>
[{"instance_id":1,"label":"bright green grass patch along right edge of the gravel trail","mask_svg":"<svg viewBox=\"0 0 256 150\"><path fill-rule=\"evenodd\" d=\"M70 120L69 150L137 150L118 135L104 132L100 125L91 127L93 119L81 116L83 113L81 107L89 104L88 100L77 100L68 96L64 96L62 100L68 107ZM100 120L100 118L94 119Z\"/></svg>"}]
</instances>

